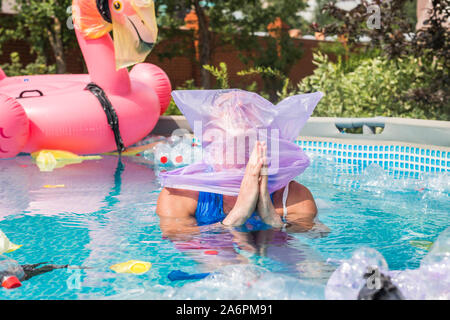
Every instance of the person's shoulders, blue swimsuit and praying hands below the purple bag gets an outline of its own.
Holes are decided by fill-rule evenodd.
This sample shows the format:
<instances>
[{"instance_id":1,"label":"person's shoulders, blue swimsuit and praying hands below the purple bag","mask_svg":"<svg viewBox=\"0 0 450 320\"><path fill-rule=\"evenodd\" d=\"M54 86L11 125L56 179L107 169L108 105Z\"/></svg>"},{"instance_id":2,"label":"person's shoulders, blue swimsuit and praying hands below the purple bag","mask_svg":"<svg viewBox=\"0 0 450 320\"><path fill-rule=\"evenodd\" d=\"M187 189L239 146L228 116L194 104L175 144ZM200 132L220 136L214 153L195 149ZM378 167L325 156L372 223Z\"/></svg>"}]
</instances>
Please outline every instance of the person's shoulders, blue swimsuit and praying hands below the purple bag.
<instances>
[{"instance_id":1,"label":"person's shoulders, blue swimsuit and praying hands below the purple bag","mask_svg":"<svg viewBox=\"0 0 450 320\"><path fill-rule=\"evenodd\" d=\"M156 213L163 232L168 234L193 231L199 224L236 227L247 222L305 232L314 226L317 206L308 188L295 181L269 193L267 146L257 141L238 196L165 187L158 197Z\"/></svg>"}]
</instances>

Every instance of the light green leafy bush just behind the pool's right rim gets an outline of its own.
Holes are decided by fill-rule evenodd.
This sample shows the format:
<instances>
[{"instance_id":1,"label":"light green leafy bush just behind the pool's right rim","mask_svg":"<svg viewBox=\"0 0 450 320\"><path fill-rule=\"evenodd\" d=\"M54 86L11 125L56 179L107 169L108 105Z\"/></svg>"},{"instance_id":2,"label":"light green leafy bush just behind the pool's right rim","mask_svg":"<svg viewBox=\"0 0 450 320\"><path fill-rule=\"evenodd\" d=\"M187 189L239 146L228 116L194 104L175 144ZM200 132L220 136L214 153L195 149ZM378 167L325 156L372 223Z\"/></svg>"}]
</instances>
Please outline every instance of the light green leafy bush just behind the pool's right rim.
<instances>
[{"instance_id":1,"label":"light green leafy bush just behind the pool's right rim","mask_svg":"<svg viewBox=\"0 0 450 320\"><path fill-rule=\"evenodd\" d=\"M342 61L331 62L327 55L318 52L314 54L314 64L314 74L303 79L298 90L325 93L315 116L450 118L440 108L405 99L408 92L433 80L432 63L425 59L368 57L358 60L357 67L348 71Z\"/></svg>"}]
</instances>

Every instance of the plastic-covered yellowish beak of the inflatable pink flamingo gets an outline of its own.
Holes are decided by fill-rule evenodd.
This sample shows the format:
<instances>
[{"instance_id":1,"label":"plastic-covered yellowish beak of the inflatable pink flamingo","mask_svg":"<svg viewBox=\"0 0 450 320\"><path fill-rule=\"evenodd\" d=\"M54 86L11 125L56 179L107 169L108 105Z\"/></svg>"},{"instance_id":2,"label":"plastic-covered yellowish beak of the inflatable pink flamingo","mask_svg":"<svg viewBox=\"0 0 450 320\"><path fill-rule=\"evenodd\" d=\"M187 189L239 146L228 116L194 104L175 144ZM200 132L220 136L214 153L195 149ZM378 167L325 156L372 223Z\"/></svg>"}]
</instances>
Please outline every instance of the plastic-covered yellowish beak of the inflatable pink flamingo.
<instances>
[{"instance_id":1,"label":"plastic-covered yellowish beak of the inflatable pink flamingo","mask_svg":"<svg viewBox=\"0 0 450 320\"><path fill-rule=\"evenodd\" d=\"M132 13L112 17L116 69L144 62L158 36L152 0L131 0Z\"/></svg>"}]
</instances>

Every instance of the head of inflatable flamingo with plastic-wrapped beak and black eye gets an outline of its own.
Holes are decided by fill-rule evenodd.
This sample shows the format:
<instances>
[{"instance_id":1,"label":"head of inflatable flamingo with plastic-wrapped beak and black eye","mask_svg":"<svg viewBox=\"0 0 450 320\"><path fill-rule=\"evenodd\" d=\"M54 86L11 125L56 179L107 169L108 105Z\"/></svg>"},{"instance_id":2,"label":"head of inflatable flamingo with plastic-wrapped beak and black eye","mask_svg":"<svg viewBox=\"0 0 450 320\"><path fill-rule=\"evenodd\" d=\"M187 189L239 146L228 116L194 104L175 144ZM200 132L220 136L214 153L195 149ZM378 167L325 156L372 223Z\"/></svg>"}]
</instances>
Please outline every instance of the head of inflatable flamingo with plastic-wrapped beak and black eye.
<instances>
[{"instance_id":1,"label":"head of inflatable flamingo with plastic-wrapped beak and black eye","mask_svg":"<svg viewBox=\"0 0 450 320\"><path fill-rule=\"evenodd\" d=\"M88 39L112 30L116 69L143 62L158 35L153 0L73 0L75 27Z\"/></svg>"}]
</instances>

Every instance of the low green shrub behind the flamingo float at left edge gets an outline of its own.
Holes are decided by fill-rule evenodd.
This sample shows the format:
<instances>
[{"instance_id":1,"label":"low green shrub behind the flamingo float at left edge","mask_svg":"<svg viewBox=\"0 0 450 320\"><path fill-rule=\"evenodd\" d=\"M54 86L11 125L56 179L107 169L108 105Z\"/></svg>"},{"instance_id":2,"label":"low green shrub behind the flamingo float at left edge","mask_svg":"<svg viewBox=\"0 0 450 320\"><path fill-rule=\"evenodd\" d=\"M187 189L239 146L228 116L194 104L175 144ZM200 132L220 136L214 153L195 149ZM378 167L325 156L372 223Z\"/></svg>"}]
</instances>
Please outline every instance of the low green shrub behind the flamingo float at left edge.
<instances>
[{"instance_id":1,"label":"low green shrub behind the flamingo float at left edge","mask_svg":"<svg viewBox=\"0 0 450 320\"><path fill-rule=\"evenodd\" d=\"M56 72L55 65L47 66L42 57L37 57L35 62L29 63L26 66L20 62L20 56L17 52L11 53L10 57L11 63L0 65L0 68L9 77Z\"/></svg>"}]
</instances>

